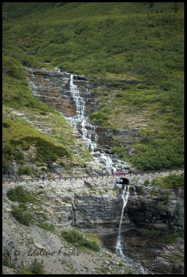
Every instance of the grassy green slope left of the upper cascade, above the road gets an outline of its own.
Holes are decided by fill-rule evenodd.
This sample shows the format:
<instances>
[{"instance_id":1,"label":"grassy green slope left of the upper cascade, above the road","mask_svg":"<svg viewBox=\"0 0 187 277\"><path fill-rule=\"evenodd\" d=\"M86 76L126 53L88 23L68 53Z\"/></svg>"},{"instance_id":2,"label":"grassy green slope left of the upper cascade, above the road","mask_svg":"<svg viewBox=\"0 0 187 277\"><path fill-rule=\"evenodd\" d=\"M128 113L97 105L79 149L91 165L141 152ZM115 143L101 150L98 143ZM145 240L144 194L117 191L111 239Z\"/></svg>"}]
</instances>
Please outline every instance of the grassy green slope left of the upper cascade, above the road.
<instances>
[{"instance_id":1,"label":"grassy green slope left of the upper cascade, above the road","mask_svg":"<svg viewBox=\"0 0 187 277\"><path fill-rule=\"evenodd\" d=\"M64 117L33 97L25 67L6 56L3 72L3 173L9 172L12 161L17 163L19 175L33 177L41 177L44 171L49 173L53 162L60 163L66 170L86 166L73 154L76 148L73 129ZM43 127L47 125L51 132L39 131L32 124L36 121Z\"/></svg>"}]
</instances>

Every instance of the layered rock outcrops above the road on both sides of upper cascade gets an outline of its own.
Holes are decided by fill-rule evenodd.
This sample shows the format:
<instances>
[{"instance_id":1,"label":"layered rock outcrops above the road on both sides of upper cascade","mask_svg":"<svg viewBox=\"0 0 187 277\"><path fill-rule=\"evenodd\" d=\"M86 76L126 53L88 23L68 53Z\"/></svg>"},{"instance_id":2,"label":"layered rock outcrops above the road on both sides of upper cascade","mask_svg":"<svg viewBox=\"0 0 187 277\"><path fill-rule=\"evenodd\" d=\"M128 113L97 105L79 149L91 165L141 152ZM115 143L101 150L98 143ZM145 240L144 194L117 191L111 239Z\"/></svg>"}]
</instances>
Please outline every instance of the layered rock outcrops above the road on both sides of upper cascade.
<instances>
[{"instance_id":1,"label":"layered rock outcrops above the road on both sides of upper cascade","mask_svg":"<svg viewBox=\"0 0 187 277\"><path fill-rule=\"evenodd\" d=\"M57 71L44 71L39 69L28 69L28 80L30 82L30 89L33 91L33 95L47 105L61 111L67 118L76 116L76 103L73 100L71 94L71 74L66 72ZM135 80L121 82L136 82ZM114 89L115 85L105 82L91 81L90 77L82 75L73 75L73 84L75 84L79 91L80 97L84 99L84 116L98 111L100 109L100 97L105 95L103 93L94 93L93 89L103 86L105 89ZM92 90L92 91L91 91ZM123 129L114 130L95 125L96 134L98 135L98 144L105 148L105 152L111 154L114 152L114 141L112 136L119 136L123 140L127 148L135 141L141 139L142 134L139 134L139 129ZM77 125L77 128L82 134L81 124ZM89 129L89 125L87 126ZM93 139L93 138L91 138ZM130 153L131 155L131 153Z\"/></svg>"}]
</instances>

